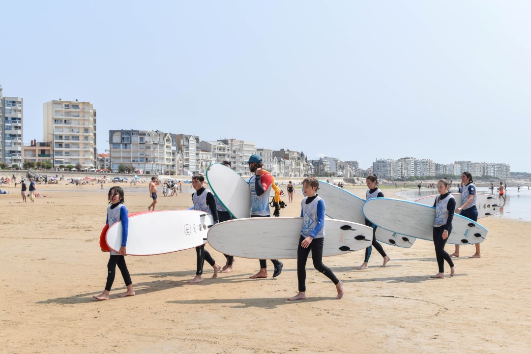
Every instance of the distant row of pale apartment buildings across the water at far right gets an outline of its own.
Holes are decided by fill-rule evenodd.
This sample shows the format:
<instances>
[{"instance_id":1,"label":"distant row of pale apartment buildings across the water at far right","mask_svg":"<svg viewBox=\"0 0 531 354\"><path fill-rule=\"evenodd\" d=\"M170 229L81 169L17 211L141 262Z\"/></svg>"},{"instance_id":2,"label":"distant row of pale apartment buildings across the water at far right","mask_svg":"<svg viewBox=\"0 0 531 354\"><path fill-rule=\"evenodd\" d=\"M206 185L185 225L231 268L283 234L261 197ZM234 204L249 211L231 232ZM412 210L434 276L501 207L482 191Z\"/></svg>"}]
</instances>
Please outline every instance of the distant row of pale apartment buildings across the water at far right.
<instances>
[{"instance_id":1,"label":"distant row of pale apartment buildings across the water at far right","mask_svg":"<svg viewBox=\"0 0 531 354\"><path fill-rule=\"evenodd\" d=\"M377 159L372 164L372 173L385 179L413 176L460 175L468 171L474 177L493 176L507 179L511 167L507 163L455 161L445 165L428 159L401 158Z\"/></svg>"}]
</instances>

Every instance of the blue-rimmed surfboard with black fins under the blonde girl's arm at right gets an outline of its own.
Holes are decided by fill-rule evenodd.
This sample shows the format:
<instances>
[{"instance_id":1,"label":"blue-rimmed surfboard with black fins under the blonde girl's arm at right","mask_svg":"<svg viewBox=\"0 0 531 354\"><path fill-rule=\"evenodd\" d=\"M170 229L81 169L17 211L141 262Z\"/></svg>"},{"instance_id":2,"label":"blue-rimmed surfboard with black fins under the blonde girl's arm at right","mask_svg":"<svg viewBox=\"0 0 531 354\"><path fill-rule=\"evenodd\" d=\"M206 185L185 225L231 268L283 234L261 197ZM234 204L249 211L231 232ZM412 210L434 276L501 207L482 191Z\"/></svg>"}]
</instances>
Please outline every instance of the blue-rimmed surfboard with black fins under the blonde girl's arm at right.
<instances>
[{"instance_id":1,"label":"blue-rimmed surfboard with black fins under the blonde girl's arm at right","mask_svg":"<svg viewBox=\"0 0 531 354\"><path fill-rule=\"evenodd\" d=\"M433 206L392 198L372 198L363 205L363 213L379 227L433 241ZM477 244L483 242L486 236L487 229L476 221L455 214L447 243Z\"/></svg>"}]
</instances>

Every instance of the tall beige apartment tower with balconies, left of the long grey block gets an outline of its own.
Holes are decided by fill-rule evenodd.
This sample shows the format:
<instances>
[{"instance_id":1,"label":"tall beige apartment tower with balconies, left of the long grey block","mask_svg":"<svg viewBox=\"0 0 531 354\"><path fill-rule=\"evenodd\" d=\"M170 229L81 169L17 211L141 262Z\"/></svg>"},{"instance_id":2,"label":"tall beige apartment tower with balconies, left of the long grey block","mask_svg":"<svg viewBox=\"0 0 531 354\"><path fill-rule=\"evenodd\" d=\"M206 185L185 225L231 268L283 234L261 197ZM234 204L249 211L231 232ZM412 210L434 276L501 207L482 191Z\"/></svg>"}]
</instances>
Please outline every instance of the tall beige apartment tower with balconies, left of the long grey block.
<instances>
[{"instance_id":1,"label":"tall beige apartment tower with balconies, left of the long grey block","mask_svg":"<svg viewBox=\"0 0 531 354\"><path fill-rule=\"evenodd\" d=\"M43 107L44 136L52 143L52 163L95 168L96 109L90 102L53 100Z\"/></svg>"}]
</instances>

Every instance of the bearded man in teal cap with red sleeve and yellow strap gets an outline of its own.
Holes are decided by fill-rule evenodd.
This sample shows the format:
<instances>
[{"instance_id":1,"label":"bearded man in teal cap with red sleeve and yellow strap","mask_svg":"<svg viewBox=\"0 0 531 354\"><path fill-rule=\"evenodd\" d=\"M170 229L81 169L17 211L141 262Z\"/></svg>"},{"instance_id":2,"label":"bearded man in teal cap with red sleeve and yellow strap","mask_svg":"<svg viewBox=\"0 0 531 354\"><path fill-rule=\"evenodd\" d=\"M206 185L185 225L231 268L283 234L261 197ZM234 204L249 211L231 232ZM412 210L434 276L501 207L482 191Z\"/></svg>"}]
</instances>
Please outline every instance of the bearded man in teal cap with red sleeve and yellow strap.
<instances>
[{"instance_id":1,"label":"bearded man in teal cap with red sleeve and yellow strap","mask_svg":"<svg viewBox=\"0 0 531 354\"><path fill-rule=\"evenodd\" d=\"M264 171L262 158L257 154L252 155L249 161L245 163L249 164L249 169L254 173L249 182L247 182L251 189L251 218L270 217L269 192L273 184L273 176ZM273 278L278 277L284 264L278 260L271 260L271 262L275 266ZM260 271L249 278L267 278L267 263L265 260L260 260Z\"/></svg>"}]
</instances>

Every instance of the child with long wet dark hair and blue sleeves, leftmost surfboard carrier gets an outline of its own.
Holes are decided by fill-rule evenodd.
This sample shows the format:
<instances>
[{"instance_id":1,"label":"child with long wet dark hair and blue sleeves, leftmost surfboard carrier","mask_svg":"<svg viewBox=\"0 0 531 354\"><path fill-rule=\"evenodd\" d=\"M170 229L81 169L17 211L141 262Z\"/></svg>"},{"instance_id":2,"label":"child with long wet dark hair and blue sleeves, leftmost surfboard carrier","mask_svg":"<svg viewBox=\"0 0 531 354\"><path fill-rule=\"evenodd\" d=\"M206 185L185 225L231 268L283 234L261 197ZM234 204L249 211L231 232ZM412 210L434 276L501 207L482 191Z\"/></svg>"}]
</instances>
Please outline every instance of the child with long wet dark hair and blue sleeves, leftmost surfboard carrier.
<instances>
[{"instance_id":1,"label":"child with long wet dark hair and blue sleeves, leftmost surfboard carrier","mask_svg":"<svg viewBox=\"0 0 531 354\"><path fill-rule=\"evenodd\" d=\"M118 295L118 297L134 296L133 282L127 270L127 264L125 264L125 246L127 244L127 233L129 231L129 215L127 214L127 208L124 203L124 191L122 187L112 187L109 189L108 194L109 206L107 208L107 221L109 227L114 223L122 221L122 246L120 252L110 250L109 262L107 263L107 283L105 284L105 290L100 295L93 295L96 300L108 300L110 289L113 287L114 277L116 274L116 265L122 273L127 291ZM107 252L105 249L101 249L102 252Z\"/></svg>"}]
</instances>

